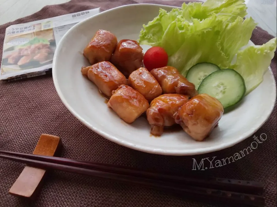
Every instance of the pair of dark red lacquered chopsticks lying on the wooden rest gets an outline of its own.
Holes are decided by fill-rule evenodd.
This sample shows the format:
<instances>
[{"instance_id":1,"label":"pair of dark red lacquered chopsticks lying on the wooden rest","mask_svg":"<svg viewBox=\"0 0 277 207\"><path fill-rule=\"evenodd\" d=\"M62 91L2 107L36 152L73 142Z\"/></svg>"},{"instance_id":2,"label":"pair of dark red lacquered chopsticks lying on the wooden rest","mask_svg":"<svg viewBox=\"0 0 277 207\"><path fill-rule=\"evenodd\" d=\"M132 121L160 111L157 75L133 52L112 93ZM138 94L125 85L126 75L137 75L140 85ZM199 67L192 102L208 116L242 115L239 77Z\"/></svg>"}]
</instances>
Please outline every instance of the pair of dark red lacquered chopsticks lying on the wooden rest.
<instances>
[{"instance_id":1,"label":"pair of dark red lacquered chopsticks lying on the wooden rest","mask_svg":"<svg viewBox=\"0 0 277 207\"><path fill-rule=\"evenodd\" d=\"M100 164L82 160L40 156L0 150L0 158L20 162L42 169L54 169L69 173L138 184L144 187L167 190L188 198L209 198L237 204L264 206L263 186L255 181L224 178L199 178L145 172L123 166ZM2 155L5 154L5 155Z\"/></svg>"}]
</instances>

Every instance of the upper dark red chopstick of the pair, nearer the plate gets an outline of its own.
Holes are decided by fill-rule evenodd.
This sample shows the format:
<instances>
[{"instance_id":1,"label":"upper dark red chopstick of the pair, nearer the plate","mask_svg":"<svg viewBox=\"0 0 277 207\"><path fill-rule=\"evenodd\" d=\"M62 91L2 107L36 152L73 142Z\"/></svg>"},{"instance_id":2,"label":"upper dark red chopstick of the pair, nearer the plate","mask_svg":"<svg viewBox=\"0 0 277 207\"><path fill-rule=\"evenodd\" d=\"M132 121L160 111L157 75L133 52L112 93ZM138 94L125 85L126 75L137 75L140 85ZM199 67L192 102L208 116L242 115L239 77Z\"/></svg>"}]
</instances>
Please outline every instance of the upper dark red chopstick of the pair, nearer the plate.
<instances>
[{"instance_id":1,"label":"upper dark red chopstick of the pair, nearer the plate","mask_svg":"<svg viewBox=\"0 0 277 207\"><path fill-rule=\"evenodd\" d=\"M88 168L93 170L101 170L111 173L120 173L122 175L132 175L136 177L144 177L148 179L156 179L161 181L170 181L176 183L182 183L186 185L193 185L199 187L209 186L210 188L216 188L221 190L234 190L241 193L263 193L263 186L261 183L255 181L244 181L235 179L225 179L225 178L214 178L214 177L181 177L176 175L166 175L160 173L146 172L137 170L134 168L127 168L125 166L115 166L111 164L95 163L83 160L73 160L68 158L50 157L50 156L40 156L33 154L25 154L19 152L9 152L0 150L0 153L9 154L13 156L20 156L24 158L29 158L33 160L40 160L45 162L52 162L57 164Z\"/></svg>"}]
</instances>

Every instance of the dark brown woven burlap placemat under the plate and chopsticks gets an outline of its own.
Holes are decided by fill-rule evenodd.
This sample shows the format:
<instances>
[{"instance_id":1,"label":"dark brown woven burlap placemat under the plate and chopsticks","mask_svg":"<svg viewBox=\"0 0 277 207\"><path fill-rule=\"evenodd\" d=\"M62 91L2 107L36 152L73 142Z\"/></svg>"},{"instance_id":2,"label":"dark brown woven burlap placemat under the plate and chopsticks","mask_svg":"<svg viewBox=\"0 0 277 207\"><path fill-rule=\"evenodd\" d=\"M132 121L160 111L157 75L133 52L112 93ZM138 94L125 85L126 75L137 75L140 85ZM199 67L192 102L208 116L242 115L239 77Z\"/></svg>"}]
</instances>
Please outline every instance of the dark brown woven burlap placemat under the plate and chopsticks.
<instances>
[{"instance_id":1,"label":"dark brown woven burlap placemat under the plate and chopsticks","mask_svg":"<svg viewBox=\"0 0 277 207\"><path fill-rule=\"evenodd\" d=\"M61 5L46 6L37 13L0 26L0 55L5 28L72 12L101 7L101 11L132 3L157 3L181 6L183 1L100 1L73 0ZM143 14L142 14L143 15ZM271 39L264 30L254 30L251 40L261 45ZM0 56L1 60L1 56ZM276 79L276 55L271 64ZM259 110L259 109L257 109ZM233 179L260 181L265 185L266 206L276 207L276 106L267 122L254 135L259 143L239 160L205 170L192 170L193 158L216 157L222 160L246 149L254 135L245 141L219 152L199 156L161 156L128 149L108 141L79 122L65 108L55 91L51 75L0 83L0 149L32 153L42 133L56 135L63 141L61 156L110 164L121 164L144 170L174 172L180 175L202 174ZM260 136L265 141L261 141ZM256 138L257 139L257 138ZM33 201L8 194L24 165L0 160L0 206L151 206L201 207L227 206L146 189L139 186L94 179L70 173L51 172L38 197ZM231 206L231 205L230 205Z\"/></svg>"}]
</instances>

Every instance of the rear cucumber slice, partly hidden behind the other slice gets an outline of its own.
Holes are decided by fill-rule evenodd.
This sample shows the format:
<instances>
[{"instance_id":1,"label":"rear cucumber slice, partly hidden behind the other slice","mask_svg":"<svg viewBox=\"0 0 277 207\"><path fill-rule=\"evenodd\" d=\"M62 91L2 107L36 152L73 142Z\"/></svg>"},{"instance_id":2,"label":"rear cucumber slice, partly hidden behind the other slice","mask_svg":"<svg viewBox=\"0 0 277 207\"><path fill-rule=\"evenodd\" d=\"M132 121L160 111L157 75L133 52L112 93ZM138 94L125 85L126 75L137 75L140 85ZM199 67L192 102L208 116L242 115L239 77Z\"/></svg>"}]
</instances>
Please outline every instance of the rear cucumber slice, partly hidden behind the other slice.
<instances>
[{"instance_id":1,"label":"rear cucumber slice, partly hidden behind the other slice","mask_svg":"<svg viewBox=\"0 0 277 207\"><path fill-rule=\"evenodd\" d=\"M220 68L215 64L198 63L188 70L186 78L190 83L195 85L195 89L197 90L203 79L217 70L220 70Z\"/></svg>"}]
</instances>

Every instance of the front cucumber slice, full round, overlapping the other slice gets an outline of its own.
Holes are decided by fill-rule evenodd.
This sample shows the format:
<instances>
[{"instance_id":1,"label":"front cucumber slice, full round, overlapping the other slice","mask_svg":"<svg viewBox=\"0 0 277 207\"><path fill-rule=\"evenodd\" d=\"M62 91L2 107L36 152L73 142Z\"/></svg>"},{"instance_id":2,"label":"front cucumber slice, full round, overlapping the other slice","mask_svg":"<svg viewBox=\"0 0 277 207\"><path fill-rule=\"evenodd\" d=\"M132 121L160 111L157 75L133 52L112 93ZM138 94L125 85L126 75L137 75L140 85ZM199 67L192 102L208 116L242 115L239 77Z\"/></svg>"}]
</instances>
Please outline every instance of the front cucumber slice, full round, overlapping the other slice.
<instances>
[{"instance_id":1,"label":"front cucumber slice, full round, overlapping the other slice","mask_svg":"<svg viewBox=\"0 0 277 207\"><path fill-rule=\"evenodd\" d=\"M207 93L221 102L223 108L239 102L246 91L243 77L233 69L217 70L203 79L199 93Z\"/></svg>"}]
</instances>

